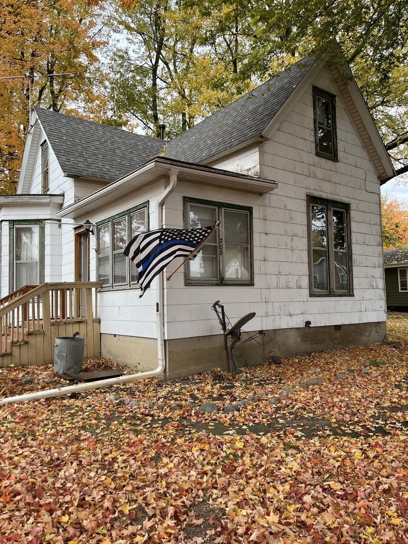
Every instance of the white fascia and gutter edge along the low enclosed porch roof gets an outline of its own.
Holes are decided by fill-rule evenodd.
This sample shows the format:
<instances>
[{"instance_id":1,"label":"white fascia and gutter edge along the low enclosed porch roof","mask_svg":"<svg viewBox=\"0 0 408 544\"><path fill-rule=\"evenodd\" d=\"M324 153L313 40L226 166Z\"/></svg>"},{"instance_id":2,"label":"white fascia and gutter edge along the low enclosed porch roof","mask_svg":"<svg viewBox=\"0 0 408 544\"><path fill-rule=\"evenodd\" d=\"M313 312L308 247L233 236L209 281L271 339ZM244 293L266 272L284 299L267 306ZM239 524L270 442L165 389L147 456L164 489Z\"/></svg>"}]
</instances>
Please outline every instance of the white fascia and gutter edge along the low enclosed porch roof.
<instances>
[{"instance_id":1,"label":"white fascia and gutter edge along the low enclosed porch roof","mask_svg":"<svg viewBox=\"0 0 408 544\"><path fill-rule=\"evenodd\" d=\"M162 167L168 168L168 171L176 171L176 172L200 172L202 175L206 175L210 178L221 178L225 180L237 180L237 178L242 178L246 181L246 183L252 184L254 187L259 187L259 190L263 192L265 189L265 185L268 184L268 187L270 187L269 190L273 190L277 187L277 183L274 181L269 180L263 180L259 178L259 180L256 180L255 178L243 176L242 174L236 174L234 172L227 172L225 171L216 171L216 169L213 169L214 171L211 171L210 167L202 167L200 165L183 165L182 163L178 163L177 161L172 161L171 159L164 159L164 158L156 158L151 160L149 163L145 164L144 166L141 166L138 170L135 170L134 172L131 172L131 174L128 174L127 176L121 178L118 181L115 181L113 183L110 183L107 187L104 187L95 193L92 193L89 196L86 196L84 199L75 202L71 204L70 206L67 206L66 208L61 209L61 211L57 212L58 217L71 217L70 214L72 213L78 213L81 211L82 208L85 208L92 202L97 202L101 197L114 194L117 189L122 187L123 185L126 185L130 180L133 180L135 177L140 177L143 174L146 174L146 172L149 172L150 170L154 170L156 167Z\"/></svg>"}]
</instances>

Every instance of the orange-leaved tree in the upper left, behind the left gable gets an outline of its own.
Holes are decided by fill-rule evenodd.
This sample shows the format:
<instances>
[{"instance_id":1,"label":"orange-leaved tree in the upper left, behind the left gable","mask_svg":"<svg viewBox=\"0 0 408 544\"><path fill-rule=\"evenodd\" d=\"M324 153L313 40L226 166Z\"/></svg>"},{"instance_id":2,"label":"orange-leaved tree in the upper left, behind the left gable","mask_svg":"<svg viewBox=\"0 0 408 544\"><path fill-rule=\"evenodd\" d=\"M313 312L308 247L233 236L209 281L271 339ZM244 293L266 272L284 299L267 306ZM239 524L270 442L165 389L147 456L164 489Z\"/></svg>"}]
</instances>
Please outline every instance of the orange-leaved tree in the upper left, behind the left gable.
<instances>
[{"instance_id":1,"label":"orange-leaved tree in the upper left, behind the left gable","mask_svg":"<svg viewBox=\"0 0 408 544\"><path fill-rule=\"evenodd\" d=\"M3 0L1 10L0 194L14 194L29 106L91 101L101 41L86 0Z\"/></svg>"}]
</instances>

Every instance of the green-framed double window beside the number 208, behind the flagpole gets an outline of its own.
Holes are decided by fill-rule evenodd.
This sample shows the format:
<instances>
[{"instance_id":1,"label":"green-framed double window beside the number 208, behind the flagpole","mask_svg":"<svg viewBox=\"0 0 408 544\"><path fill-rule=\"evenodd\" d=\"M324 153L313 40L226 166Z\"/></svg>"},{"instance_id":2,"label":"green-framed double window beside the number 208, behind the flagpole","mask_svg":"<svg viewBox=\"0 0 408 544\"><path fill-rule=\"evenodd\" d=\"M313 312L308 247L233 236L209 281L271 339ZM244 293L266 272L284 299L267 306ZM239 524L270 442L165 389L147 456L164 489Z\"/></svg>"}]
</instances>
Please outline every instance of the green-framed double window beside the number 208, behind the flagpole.
<instances>
[{"instance_id":1,"label":"green-framed double window beside the number 208, behind the flagpole","mask_svg":"<svg viewBox=\"0 0 408 544\"><path fill-rule=\"evenodd\" d=\"M219 202L184 199L187 228L217 228L194 260L186 264L191 284L252 283L252 209Z\"/></svg>"}]
</instances>

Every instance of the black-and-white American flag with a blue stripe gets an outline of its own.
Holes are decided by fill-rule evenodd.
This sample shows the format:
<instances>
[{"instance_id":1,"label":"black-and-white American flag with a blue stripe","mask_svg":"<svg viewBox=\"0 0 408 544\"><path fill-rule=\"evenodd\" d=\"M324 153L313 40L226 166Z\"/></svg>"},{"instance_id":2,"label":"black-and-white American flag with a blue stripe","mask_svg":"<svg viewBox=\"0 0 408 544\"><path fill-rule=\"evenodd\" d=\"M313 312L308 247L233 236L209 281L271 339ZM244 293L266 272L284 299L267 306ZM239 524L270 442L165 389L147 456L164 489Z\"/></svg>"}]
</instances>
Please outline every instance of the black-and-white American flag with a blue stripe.
<instances>
[{"instance_id":1,"label":"black-and-white American flag with a blue stripe","mask_svg":"<svg viewBox=\"0 0 408 544\"><path fill-rule=\"evenodd\" d=\"M176 257L187 257L208 236L212 227L190 228L158 228L155 231L142 232L126 246L125 254L135 264L138 271L138 282L141 296L157 276ZM201 248L191 256L199 254Z\"/></svg>"}]
</instances>

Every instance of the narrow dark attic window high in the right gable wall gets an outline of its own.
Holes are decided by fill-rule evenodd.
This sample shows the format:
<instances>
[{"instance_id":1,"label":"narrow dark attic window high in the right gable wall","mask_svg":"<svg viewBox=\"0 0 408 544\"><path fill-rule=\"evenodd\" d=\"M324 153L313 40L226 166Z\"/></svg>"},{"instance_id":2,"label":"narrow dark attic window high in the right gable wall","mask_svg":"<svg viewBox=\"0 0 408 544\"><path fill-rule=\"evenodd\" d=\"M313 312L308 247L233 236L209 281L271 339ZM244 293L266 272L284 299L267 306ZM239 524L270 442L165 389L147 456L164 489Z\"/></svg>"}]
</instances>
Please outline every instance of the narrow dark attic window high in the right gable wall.
<instances>
[{"instance_id":1,"label":"narrow dark attic window high in the right gable wall","mask_svg":"<svg viewBox=\"0 0 408 544\"><path fill-rule=\"evenodd\" d=\"M335 95L313 87L313 114L317 156L337 160Z\"/></svg>"}]
</instances>

